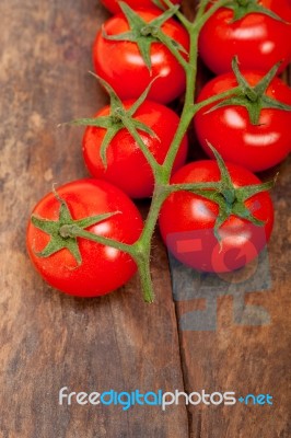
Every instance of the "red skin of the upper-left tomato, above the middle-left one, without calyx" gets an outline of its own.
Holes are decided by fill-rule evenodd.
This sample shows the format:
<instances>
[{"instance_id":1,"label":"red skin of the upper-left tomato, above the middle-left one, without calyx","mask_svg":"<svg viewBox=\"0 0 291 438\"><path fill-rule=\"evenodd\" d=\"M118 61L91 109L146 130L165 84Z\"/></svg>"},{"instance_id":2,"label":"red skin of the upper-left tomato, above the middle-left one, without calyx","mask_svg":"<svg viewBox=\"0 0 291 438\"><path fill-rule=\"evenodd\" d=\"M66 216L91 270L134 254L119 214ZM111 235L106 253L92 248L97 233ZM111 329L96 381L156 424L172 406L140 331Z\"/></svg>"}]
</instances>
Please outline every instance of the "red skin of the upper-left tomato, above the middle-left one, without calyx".
<instances>
[{"instance_id":1,"label":"red skin of the upper-left tomato, above the middle-left one, without calyx","mask_svg":"<svg viewBox=\"0 0 291 438\"><path fill-rule=\"evenodd\" d=\"M161 14L160 11L139 10L147 22ZM128 32L129 25L124 14L110 18L104 24L108 35ZM188 49L189 37L184 27L170 19L162 26L163 32ZM93 45L93 64L96 73L107 81L121 100L138 99L153 78L149 100L168 103L185 90L185 72L170 50L161 43L151 45L152 69L149 71L136 43L108 41L100 31Z\"/></svg>"}]
</instances>

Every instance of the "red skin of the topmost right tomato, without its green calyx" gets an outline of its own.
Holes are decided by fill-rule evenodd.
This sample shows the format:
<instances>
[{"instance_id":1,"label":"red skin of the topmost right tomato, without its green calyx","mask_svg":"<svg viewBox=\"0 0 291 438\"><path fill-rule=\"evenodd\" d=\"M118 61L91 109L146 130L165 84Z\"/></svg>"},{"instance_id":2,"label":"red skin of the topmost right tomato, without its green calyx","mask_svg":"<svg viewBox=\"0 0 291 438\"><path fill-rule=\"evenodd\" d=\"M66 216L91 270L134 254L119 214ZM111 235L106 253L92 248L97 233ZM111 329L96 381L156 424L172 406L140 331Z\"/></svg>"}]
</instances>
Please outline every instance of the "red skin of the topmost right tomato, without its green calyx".
<instances>
[{"instance_id":1,"label":"red skin of the topmost right tomato, without its green calyx","mask_svg":"<svg viewBox=\"0 0 291 438\"><path fill-rule=\"evenodd\" d=\"M271 9L288 21L251 13L234 23L233 11L219 9L205 24L199 35L199 54L217 74L232 71L231 61L238 57L244 70L267 72L282 61L281 72L291 60L291 4L288 0L261 0L259 4Z\"/></svg>"}]
</instances>

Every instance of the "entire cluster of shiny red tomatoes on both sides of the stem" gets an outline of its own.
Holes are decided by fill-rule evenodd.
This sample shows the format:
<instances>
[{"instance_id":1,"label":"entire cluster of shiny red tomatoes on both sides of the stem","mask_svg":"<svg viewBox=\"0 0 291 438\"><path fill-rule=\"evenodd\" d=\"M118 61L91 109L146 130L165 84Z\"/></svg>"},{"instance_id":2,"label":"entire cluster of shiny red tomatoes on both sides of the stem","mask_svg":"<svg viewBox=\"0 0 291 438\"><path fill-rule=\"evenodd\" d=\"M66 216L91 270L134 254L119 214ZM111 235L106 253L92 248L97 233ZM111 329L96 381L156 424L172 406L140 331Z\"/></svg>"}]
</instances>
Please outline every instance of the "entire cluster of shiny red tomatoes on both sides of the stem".
<instances>
[{"instance_id":1,"label":"entire cluster of shiny red tomatoes on both sides of the stem","mask_svg":"<svg viewBox=\"0 0 291 438\"><path fill-rule=\"evenodd\" d=\"M184 93L185 69L168 47L155 41L152 23L176 42L183 59L187 60L189 50L188 32L173 18L161 21L163 11L151 0L102 0L102 3L115 15L104 23L96 35L93 64L96 73L118 97L112 99L115 106L98 111L95 118L100 123L88 126L84 131L83 157L92 177L68 183L44 197L34 208L27 228L27 249L36 269L53 287L82 297L115 290L128 281L137 266L130 254L74 235L72 227L130 245L138 241L143 230L143 221L132 198L151 197L154 189L149 160L118 118L118 102L121 101L125 111L131 111L140 139L161 165L179 124L179 116L165 105ZM163 1L160 3L165 5ZM173 4L176 3L179 1L173 1ZM234 56L249 89L255 89L277 62L281 62L278 73L290 62L289 0L233 0L230 3L234 8L219 9L199 35L200 57L218 76L205 85L197 102L238 85L237 77L232 71ZM240 13L247 3L267 8L271 14L257 11L234 20L235 13ZM141 23L142 32L138 33ZM153 78L156 80L149 89L147 99L137 104ZM212 104L201 108L194 117L194 127L210 160L185 164L188 150L185 136L174 161L171 184L220 181L221 168L213 160L209 143L226 161L225 169L233 187L259 184L253 172L281 162L288 155L291 143L290 113L280 107L280 104L291 105L290 88L275 77L270 78L263 92L266 99L264 102L257 100L261 107L255 124L247 107L241 104L245 96L237 96L236 104L217 105L217 108ZM249 99L256 105L256 97ZM276 108L273 104L267 107L268 99L276 102ZM254 221L240 215L226 217L221 222L222 241L218 244L214 228L219 205L216 200L185 191L174 193L164 201L160 212L162 238L178 260L197 269L236 269L264 247L273 222L268 193L255 193L245 200L245 206L254 216ZM86 221L86 218L94 219ZM264 239L261 232L258 238L259 227L255 220L264 223L260 227ZM202 234L201 230L206 232ZM181 251L178 244L179 241L187 242L187 233L191 231L197 231L201 240L198 256L188 250Z\"/></svg>"}]
</instances>

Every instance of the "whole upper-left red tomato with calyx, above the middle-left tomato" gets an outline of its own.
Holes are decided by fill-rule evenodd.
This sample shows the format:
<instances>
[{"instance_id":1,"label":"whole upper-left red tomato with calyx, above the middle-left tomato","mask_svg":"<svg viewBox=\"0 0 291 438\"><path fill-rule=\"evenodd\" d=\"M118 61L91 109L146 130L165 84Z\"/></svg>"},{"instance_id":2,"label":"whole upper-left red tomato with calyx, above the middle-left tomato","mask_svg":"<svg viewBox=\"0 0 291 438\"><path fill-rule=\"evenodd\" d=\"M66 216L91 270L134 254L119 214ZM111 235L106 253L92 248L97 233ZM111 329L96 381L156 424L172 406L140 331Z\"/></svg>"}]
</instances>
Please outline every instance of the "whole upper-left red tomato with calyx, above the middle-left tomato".
<instances>
[{"instance_id":1,"label":"whole upper-left red tomato with calyx, above the middle-left tomato","mask_svg":"<svg viewBox=\"0 0 291 438\"><path fill-rule=\"evenodd\" d=\"M168 12L158 9L133 11L127 4L123 10L107 20L96 35L93 45L96 73L121 100L138 99L158 77L149 99L160 103L173 101L184 92L186 77L163 41L166 38L181 58L186 59L188 33L168 18Z\"/></svg>"}]
</instances>

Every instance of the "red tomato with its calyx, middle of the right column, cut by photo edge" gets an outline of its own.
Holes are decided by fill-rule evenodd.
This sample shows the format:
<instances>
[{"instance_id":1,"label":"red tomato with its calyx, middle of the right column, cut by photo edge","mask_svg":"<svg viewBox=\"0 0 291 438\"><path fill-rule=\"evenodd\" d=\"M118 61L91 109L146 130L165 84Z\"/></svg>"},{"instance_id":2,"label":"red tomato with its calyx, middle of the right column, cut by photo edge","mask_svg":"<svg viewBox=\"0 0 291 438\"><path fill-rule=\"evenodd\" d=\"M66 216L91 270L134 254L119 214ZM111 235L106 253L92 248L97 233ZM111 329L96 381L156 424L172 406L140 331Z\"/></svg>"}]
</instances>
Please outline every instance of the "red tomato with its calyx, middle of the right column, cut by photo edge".
<instances>
[{"instance_id":1,"label":"red tomato with its calyx, middle of the right column, cut by photo edge","mask_svg":"<svg viewBox=\"0 0 291 438\"><path fill-rule=\"evenodd\" d=\"M226 161L260 172L280 163L291 150L291 88L273 78L245 71L233 72L209 81L200 91L198 102L237 88L240 95L201 108L194 118L198 140L213 158L210 142ZM237 81L238 79L238 81Z\"/></svg>"}]
</instances>

